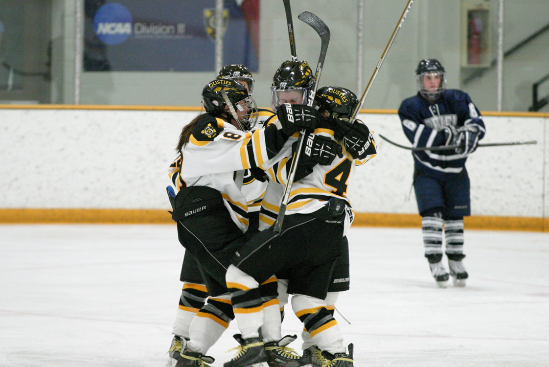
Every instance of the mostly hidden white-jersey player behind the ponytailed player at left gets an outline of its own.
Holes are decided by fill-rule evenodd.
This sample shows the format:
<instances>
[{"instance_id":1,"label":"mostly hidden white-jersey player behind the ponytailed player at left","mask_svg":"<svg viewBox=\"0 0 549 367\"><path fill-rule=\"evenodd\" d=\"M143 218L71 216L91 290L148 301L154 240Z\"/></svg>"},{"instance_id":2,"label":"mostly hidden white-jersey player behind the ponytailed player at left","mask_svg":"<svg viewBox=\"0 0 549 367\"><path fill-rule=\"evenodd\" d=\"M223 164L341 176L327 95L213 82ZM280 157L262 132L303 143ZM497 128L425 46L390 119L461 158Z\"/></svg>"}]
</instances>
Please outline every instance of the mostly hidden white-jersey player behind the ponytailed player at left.
<instances>
[{"instance_id":1,"label":"mostly hidden white-jersey player behind the ponytailed player at left","mask_svg":"<svg viewBox=\"0 0 549 367\"><path fill-rule=\"evenodd\" d=\"M225 65L219 71L217 79L232 79L247 88L250 97L253 97L254 78L250 70L242 64ZM268 109L257 109L257 122L252 129L260 129L274 113ZM242 192L248 201L249 226L248 231L257 230L259 226L259 210L261 199L265 192L266 182L256 180L249 170L244 171ZM208 290L202 280L196 260L191 252L186 251L181 268L180 281L183 289L179 300L176 319L173 324L173 338L169 349L167 367L177 363L181 352L181 339L189 340L189 326L194 316L204 306L208 298Z\"/></svg>"}]
</instances>

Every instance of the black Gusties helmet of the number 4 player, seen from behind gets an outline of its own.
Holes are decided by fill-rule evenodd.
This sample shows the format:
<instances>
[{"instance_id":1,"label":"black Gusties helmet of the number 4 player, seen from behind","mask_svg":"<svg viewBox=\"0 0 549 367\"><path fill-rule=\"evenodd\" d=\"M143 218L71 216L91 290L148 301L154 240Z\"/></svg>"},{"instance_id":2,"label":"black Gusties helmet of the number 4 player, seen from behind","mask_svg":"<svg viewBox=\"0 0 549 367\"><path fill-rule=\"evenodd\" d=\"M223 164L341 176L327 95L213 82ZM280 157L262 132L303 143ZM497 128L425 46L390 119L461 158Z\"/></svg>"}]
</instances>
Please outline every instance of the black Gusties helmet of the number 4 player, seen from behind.
<instances>
[{"instance_id":1,"label":"black Gusties helmet of the number 4 player, seen from behind","mask_svg":"<svg viewBox=\"0 0 549 367\"><path fill-rule=\"evenodd\" d=\"M322 87L316 91L313 106L324 118L350 118L358 98L356 94L343 87Z\"/></svg>"}]
</instances>

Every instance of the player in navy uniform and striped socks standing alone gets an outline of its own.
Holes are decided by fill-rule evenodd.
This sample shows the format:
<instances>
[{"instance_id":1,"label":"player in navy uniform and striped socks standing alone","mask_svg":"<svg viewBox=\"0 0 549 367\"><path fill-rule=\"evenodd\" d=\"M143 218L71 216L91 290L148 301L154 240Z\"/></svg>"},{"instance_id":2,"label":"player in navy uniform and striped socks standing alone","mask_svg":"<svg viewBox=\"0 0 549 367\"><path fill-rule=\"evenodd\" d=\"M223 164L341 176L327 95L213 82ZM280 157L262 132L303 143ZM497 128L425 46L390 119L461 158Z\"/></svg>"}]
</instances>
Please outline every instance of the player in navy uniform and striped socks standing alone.
<instances>
[{"instance_id":1,"label":"player in navy uniform and striped socks standing alone","mask_svg":"<svg viewBox=\"0 0 549 367\"><path fill-rule=\"evenodd\" d=\"M419 92L402 101L399 108L404 134L414 147L459 146L412 153L425 257L436 283L446 287L449 275L441 261L444 233L453 284L465 286L463 217L470 215L465 162L484 137L484 121L467 93L446 90L445 70L438 60L421 60L416 78Z\"/></svg>"}]
</instances>

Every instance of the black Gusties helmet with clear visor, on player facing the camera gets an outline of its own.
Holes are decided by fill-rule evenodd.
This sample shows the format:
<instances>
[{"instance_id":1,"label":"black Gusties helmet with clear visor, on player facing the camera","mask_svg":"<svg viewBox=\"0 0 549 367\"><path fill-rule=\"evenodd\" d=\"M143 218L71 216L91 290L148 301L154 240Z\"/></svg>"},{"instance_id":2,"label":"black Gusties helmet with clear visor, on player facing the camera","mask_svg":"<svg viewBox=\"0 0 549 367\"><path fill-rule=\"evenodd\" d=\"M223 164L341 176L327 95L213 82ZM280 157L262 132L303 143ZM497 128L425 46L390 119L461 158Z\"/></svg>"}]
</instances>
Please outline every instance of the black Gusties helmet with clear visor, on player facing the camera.
<instances>
[{"instance_id":1,"label":"black Gusties helmet with clear visor, on player facing the camera","mask_svg":"<svg viewBox=\"0 0 549 367\"><path fill-rule=\"evenodd\" d=\"M276 110L283 103L307 104L314 80L306 61L285 61L273 76L271 107Z\"/></svg>"}]
</instances>

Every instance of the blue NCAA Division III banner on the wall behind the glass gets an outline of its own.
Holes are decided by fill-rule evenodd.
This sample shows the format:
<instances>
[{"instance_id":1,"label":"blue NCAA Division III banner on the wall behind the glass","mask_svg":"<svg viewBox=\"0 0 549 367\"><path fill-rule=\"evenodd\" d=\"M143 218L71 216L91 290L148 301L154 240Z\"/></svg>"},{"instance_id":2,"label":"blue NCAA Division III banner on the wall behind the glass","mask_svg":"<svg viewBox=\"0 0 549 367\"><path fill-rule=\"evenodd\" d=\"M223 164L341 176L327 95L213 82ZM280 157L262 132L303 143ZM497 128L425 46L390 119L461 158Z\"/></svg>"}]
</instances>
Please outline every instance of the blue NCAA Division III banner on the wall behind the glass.
<instances>
[{"instance_id":1,"label":"blue NCAA Division III banner on the wall behind the glass","mask_svg":"<svg viewBox=\"0 0 549 367\"><path fill-rule=\"evenodd\" d=\"M257 71L260 0L224 5L223 64ZM215 0L85 0L85 22L85 71L216 71Z\"/></svg>"}]
</instances>

